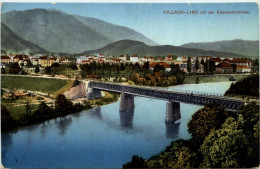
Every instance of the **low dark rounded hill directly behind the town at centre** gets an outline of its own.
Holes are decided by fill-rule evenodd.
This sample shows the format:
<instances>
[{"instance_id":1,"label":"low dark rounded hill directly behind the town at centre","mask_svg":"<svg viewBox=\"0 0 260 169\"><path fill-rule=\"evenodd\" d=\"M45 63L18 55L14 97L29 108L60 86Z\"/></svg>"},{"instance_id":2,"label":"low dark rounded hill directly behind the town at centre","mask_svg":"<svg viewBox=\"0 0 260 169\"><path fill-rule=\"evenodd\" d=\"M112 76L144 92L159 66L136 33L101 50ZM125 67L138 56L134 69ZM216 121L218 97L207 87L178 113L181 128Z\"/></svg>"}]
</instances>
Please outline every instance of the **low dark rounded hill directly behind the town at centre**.
<instances>
[{"instance_id":1,"label":"low dark rounded hill directly behind the town at centre","mask_svg":"<svg viewBox=\"0 0 260 169\"><path fill-rule=\"evenodd\" d=\"M96 50L85 51L81 54L97 54L103 53L104 55L119 56L121 54L129 55L140 55L140 56L165 56L165 55L176 55L176 56L220 56L220 57L245 57L234 53L217 52L217 51L206 51L201 49L189 49L179 46L162 45L162 46L148 46L143 42L133 40L121 40L103 48Z\"/></svg>"}]
</instances>

